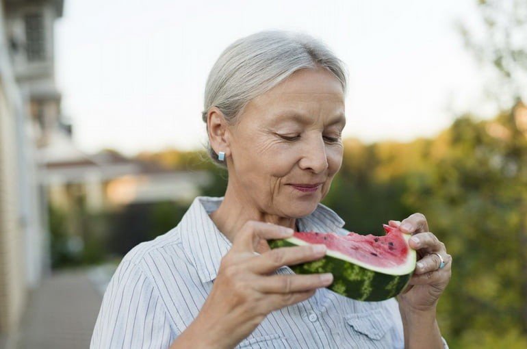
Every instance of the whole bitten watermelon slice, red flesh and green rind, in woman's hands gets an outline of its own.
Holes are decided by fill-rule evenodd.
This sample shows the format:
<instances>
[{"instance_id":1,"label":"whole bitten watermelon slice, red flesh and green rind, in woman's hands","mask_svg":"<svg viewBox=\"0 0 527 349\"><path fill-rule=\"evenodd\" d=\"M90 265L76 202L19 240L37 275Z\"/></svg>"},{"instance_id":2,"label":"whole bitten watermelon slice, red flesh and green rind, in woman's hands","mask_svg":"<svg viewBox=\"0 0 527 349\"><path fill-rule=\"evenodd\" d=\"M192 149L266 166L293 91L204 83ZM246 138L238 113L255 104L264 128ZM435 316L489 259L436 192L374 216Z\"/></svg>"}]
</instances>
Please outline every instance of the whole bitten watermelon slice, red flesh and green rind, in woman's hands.
<instances>
[{"instance_id":1,"label":"whole bitten watermelon slice, red flesh and green rind, in woman's hands","mask_svg":"<svg viewBox=\"0 0 527 349\"><path fill-rule=\"evenodd\" d=\"M271 248L324 244L326 256L317 261L290 266L297 274L333 273L329 289L364 301L397 296L415 270L416 254L408 245L409 234L383 224L386 235L337 235L295 232L290 238L272 240Z\"/></svg>"}]
</instances>

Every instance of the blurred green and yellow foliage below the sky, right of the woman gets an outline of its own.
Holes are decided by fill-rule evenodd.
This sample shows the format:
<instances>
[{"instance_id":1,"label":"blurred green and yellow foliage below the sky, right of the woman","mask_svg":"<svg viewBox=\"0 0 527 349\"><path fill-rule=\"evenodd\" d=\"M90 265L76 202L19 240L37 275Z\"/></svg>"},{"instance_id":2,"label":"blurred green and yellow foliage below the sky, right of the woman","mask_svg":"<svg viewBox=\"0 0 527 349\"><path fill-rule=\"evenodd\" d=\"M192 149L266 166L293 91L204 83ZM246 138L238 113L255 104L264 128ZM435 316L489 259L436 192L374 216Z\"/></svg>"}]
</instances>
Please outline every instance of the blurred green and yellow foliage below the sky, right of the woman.
<instances>
[{"instance_id":1,"label":"blurred green and yellow foliage below the sky, right of the woman","mask_svg":"<svg viewBox=\"0 0 527 349\"><path fill-rule=\"evenodd\" d=\"M453 256L439 303L452 348L526 348L527 132L516 111L461 116L433 140L345 143L324 203L346 227L376 233L413 212Z\"/></svg>"}]
</instances>

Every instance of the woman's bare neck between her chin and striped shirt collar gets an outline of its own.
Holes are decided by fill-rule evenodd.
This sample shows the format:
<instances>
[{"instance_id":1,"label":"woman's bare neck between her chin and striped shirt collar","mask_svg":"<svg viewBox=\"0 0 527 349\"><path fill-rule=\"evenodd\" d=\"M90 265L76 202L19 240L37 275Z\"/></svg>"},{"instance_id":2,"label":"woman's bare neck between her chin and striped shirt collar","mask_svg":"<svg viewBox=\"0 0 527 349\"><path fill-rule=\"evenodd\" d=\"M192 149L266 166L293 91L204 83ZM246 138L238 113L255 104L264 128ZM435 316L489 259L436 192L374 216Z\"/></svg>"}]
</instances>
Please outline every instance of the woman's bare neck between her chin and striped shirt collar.
<instances>
[{"instance_id":1,"label":"woman's bare neck between her chin and striped shirt collar","mask_svg":"<svg viewBox=\"0 0 527 349\"><path fill-rule=\"evenodd\" d=\"M240 195L240 192L240 190L235 188L232 181L229 181L220 207L210 214L210 218L216 224L216 227L231 242L234 241L237 233L248 220L269 222L281 225L282 227L295 229L295 218L285 218L268 214L257 207L252 198L244 194Z\"/></svg>"}]
</instances>

